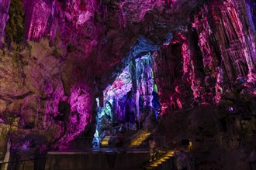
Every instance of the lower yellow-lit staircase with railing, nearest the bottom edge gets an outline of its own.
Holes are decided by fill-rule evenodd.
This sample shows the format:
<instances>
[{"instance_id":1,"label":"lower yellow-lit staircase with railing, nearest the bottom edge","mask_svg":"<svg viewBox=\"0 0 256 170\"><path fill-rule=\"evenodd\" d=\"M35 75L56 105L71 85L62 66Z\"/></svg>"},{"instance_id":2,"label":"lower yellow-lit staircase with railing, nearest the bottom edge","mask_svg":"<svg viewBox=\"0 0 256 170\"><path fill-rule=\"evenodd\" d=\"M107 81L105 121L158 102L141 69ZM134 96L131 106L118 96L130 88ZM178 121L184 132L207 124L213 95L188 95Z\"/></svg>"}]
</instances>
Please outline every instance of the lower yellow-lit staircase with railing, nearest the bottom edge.
<instances>
[{"instance_id":1,"label":"lower yellow-lit staircase with railing, nearest the bottom edge","mask_svg":"<svg viewBox=\"0 0 256 170\"><path fill-rule=\"evenodd\" d=\"M179 144L182 140L180 138L175 138L171 141L168 141L166 145L164 145L163 148L157 149L156 158L153 162L147 162L146 165L144 165L144 169L161 169L160 166L164 164L164 162L171 161L172 158L174 158L175 152L180 151ZM185 151L189 151L189 148L192 146L189 145Z\"/></svg>"}]
</instances>

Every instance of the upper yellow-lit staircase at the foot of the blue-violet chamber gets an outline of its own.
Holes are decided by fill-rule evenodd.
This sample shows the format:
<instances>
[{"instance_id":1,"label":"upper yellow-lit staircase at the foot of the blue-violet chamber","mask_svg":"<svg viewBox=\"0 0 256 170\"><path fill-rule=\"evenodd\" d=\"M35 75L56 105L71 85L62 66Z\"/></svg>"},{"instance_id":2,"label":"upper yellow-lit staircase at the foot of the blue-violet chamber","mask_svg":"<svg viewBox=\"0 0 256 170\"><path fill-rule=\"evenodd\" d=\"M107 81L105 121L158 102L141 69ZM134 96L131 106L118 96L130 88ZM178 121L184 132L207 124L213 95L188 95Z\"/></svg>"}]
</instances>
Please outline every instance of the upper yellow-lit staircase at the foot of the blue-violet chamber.
<instances>
[{"instance_id":1,"label":"upper yellow-lit staircase at the foot of the blue-violet chamber","mask_svg":"<svg viewBox=\"0 0 256 170\"><path fill-rule=\"evenodd\" d=\"M139 147L147 138L151 135L151 131L154 129L155 124L150 124L147 127L144 127L137 134L134 134L132 138L130 138L130 147Z\"/></svg>"}]
</instances>

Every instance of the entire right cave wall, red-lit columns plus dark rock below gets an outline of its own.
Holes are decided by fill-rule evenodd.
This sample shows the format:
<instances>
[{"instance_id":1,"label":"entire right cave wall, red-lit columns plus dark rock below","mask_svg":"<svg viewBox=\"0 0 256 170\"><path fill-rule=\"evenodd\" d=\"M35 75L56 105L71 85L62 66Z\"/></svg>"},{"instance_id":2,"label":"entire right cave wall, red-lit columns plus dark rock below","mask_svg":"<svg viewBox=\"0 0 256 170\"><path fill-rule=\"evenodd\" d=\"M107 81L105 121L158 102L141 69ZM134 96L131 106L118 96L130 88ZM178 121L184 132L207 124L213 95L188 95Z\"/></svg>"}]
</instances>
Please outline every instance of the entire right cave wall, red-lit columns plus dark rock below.
<instances>
[{"instance_id":1,"label":"entire right cave wall, red-lit columns plus dark rock below","mask_svg":"<svg viewBox=\"0 0 256 170\"><path fill-rule=\"evenodd\" d=\"M196 169L249 169L256 158L251 8L255 5L241 1L202 5L189 14L187 32L178 32L155 53L164 116L154 133L190 139Z\"/></svg>"}]
</instances>

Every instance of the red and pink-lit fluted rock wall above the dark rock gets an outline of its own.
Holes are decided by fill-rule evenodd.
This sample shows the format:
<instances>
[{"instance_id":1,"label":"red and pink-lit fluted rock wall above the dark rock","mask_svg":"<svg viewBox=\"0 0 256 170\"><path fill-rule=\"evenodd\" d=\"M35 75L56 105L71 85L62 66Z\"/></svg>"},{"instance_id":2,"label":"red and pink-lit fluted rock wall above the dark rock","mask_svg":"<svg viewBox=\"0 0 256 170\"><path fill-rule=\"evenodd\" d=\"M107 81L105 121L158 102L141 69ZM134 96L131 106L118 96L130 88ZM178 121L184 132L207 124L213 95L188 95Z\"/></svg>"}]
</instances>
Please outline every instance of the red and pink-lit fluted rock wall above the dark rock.
<instances>
[{"instance_id":1,"label":"red and pink-lit fluted rock wall above the dark rock","mask_svg":"<svg viewBox=\"0 0 256 170\"><path fill-rule=\"evenodd\" d=\"M187 31L155 54L163 113L220 104L230 93L254 97L255 34L246 10L237 1L202 5L189 14Z\"/></svg>"}]
</instances>

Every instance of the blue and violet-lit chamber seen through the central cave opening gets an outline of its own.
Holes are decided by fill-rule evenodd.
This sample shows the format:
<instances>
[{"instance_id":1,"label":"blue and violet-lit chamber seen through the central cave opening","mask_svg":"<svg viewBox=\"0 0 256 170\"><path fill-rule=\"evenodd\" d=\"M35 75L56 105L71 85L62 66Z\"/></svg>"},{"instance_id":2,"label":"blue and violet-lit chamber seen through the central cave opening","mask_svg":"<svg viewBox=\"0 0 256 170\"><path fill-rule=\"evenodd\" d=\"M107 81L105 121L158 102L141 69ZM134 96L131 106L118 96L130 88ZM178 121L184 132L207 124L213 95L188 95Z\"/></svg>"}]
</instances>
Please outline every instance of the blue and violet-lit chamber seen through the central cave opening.
<instances>
[{"instance_id":1,"label":"blue and violet-lit chamber seen through the central cave opening","mask_svg":"<svg viewBox=\"0 0 256 170\"><path fill-rule=\"evenodd\" d=\"M138 46L135 49L138 50ZM157 120L161 104L152 66L150 52L138 54L112 85L106 87L103 100L96 99L98 108L94 148L98 148L106 136L137 131Z\"/></svg>"}]
</instances>

